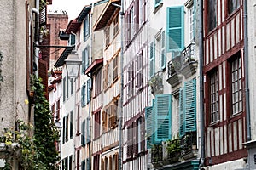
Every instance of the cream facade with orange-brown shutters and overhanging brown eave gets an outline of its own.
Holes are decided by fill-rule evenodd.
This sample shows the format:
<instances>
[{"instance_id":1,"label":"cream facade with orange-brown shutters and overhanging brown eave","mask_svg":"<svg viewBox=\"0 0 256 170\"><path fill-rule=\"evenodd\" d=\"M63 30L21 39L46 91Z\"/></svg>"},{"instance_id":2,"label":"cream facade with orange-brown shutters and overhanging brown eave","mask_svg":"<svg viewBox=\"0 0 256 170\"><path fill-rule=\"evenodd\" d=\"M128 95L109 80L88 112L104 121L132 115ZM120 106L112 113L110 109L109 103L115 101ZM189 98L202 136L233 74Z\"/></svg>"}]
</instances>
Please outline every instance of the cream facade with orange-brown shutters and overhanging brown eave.
<instances>
[{"instance_id":1,"label":"cream facade with orange-brown shutters and overhanging brown eave","mask_svg":"<svg viewBox=\"0 0 256 170\"><path fill-rule=\"evenodd\" d=\"M100 37L103 64L95 73L95 97L92 106L92 169L118 169L119 158L119 105L120 105L120 16L119 0L105 4L93 25L93 31L103 31ZM93 64L94 65L94 64Z\"/></svg>"}]
</instances>

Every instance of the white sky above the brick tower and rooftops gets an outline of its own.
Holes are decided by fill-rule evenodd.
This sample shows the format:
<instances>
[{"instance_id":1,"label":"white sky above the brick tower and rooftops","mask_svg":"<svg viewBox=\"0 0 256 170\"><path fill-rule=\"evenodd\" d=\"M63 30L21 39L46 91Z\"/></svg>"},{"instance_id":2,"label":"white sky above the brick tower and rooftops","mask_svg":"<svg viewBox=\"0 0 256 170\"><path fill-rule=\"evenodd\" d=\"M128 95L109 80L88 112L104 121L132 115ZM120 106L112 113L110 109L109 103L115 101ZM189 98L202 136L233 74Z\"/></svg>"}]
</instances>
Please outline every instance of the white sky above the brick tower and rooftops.
<instances>
[{"instance_id":1,"label":"white sky above the brick tower and rooftops","mask_svg":"<svg viewBox=\"0 0 256 170\"><path fill-rule=\"evenodd\" d=\"M52 14L68 14L68 20L77 18L85 5L95 3L97 0L53 0L48 6L48 12Z\"/></svg>"}]
</instances>

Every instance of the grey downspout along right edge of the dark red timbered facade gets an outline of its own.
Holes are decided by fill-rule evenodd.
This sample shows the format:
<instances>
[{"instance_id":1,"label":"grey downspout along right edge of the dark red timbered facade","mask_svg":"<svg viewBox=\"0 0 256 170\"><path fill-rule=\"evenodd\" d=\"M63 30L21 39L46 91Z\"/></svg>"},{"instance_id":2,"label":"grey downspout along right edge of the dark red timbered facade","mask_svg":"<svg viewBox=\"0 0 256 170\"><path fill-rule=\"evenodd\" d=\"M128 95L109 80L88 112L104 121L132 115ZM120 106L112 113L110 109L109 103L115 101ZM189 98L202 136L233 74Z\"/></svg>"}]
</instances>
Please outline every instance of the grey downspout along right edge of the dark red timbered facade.
<instances>
[{"instance_id":1,"label":"grey downspout along right edge of the dark red timbered facade","mask_svg":"<svg viewBox=\"0 0 256 170\"><path fill-rule=\"evenodd\" d=\"M247 0L243 1L244 20L244 73L245 73L245 97L246 97L246 118L247 118L247 141L251 140L251 115L250 115L250 90L248 77L248 32L247 32Z\"/></svg>"}]
</instances>

